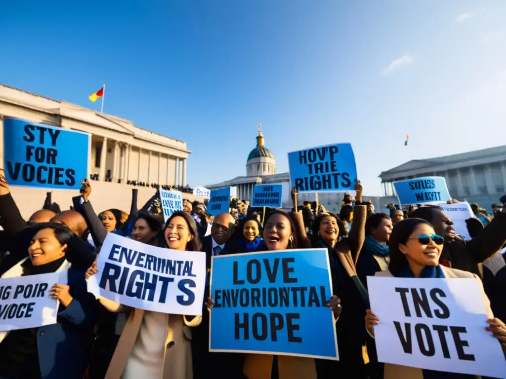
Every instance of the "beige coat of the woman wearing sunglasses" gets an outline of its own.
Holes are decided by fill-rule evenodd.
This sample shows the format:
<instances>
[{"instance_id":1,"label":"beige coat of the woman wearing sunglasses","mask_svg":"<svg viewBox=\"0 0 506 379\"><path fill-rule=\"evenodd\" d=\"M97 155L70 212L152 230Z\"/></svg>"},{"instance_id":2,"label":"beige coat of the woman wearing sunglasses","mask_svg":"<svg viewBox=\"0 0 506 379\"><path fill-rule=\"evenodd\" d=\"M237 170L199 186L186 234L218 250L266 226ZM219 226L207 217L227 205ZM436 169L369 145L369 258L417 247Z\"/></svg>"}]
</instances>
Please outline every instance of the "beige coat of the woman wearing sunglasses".
<instances>
[{"instance_id":1,"label":"beige coat of the woman wearing sunglasses","mask_svg":"<svg viewBox=\"0 0 506 379\"><path fill-rule=\"evenodd\" d=\"M485 305L485 312L488 318L494 318L492 313L492 309L490 309L490 301L488 300L487 295L485 295L485 291L483 290L483 284L478 275L473 274L472 272L457 270L456 268L448 268L446 266L440 265L443 270L443 274L447 279L454 278L474 278L478 282L478 286L480 287L483 304ZM393 277L392 273L389 270L376 272L375 276L386 276ZM421 368L401 366L398 364L385 363L385 375L384 379L424 379L424 375Z\"/></svg>"}]
</instances>

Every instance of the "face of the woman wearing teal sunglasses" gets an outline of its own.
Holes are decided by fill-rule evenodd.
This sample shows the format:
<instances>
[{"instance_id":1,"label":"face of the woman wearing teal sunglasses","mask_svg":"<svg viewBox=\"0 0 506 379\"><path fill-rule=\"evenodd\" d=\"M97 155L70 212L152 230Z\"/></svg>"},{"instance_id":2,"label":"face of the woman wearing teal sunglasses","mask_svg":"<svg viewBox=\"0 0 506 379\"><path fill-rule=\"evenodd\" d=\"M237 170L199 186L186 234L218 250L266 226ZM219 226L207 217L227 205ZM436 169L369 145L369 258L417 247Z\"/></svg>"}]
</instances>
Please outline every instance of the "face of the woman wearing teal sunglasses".
<instances>
[{"instance_id":1,"label":"face of the woman wearing teal sunglasses","mask_svg":"<svg viewBox=\"0 0 506 379\"><path fill-rule=\"evenodd\" d=\"M436 233L431 226L419 224L409 235L406 244L399 244L399 250L406 256L410 266L437 266L444 245L436 245L432 239L429 245L422 245L418 241L418 236L421 234L433 235Z\"/></svg>"}]
</instances>

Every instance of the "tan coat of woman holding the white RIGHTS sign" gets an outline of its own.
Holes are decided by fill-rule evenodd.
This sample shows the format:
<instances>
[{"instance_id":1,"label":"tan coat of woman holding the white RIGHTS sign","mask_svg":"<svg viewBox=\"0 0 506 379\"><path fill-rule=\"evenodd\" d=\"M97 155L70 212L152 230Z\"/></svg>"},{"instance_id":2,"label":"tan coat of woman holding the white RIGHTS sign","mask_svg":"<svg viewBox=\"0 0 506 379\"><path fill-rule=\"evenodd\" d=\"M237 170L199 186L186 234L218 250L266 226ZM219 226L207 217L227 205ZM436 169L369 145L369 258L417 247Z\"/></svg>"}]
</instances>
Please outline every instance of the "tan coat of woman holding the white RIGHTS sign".
<instances>
[{"instance_id":1,"label":"tan coat of woman holding the white RIGHTS sign","mask_svg":"<svg viewBox=\"0 0 506 379\"><path fill-rule=\"evenodd\" d=\"M100 302L110 311L124 312L128 307L119 305L110 300L99 298ZM144 310L132 308L130 317L119 337L116 350L112 356L105 379L119 379L130 358L134 348L139 329L141 327ZM165 329L166 338L163 358L163 377L149 379L192 379L192 359L191 359L191 329L190 326L197 326L202 321L202 317L196 316L188 321L185 316L177 314L167 315L167 326ZM167 345L174 342L172 347L167 349ZM148 379L148 378L140 378Z\"/></svg>"}]
</instances>

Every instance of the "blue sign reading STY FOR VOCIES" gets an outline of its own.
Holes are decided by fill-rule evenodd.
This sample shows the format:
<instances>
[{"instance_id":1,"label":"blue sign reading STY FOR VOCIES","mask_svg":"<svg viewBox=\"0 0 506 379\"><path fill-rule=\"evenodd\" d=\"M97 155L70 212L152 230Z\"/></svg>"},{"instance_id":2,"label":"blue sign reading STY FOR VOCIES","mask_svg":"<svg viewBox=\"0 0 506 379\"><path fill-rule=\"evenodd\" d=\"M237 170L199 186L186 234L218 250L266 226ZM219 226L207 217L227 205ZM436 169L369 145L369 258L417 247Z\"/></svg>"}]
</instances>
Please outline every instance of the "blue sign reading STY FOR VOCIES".
<instances>
[{"instance_id":1,"label":"blue sign reading STY FOR VOCIES","mask_svg":"<svg viewBox=\"0 0 506 379\"><path fill-rule=\"evenodd\" d=\"M5 173L10 185L79 189L88 177L86 133L4 118Z\"/></svg>"}]
</instances>

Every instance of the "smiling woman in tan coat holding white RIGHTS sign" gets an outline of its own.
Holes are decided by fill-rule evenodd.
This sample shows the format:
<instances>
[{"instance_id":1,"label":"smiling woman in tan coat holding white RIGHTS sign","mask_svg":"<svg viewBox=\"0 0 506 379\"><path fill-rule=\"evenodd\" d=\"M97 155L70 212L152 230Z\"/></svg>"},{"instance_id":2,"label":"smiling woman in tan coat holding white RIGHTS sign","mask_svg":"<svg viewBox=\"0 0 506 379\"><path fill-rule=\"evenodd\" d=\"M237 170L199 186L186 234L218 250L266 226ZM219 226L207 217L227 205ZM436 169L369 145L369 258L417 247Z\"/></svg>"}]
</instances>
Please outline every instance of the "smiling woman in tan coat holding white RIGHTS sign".
<instances>
[{"instance_id":1,"label":"smiling woman in tan coat holding white RIGHTS sign","mask_svg":"<svg viewBox=\"0 0 506 379\"><path fill-rule=\"evenodd\" d=\"M170 249L200 251L195 220L186 212L175 212L163 234ZM193 378L189 327L200 324L201 317L132 309L104 298L99 300L111 311L130 311L106 379Z\"/></svg>"}]
</instances>

